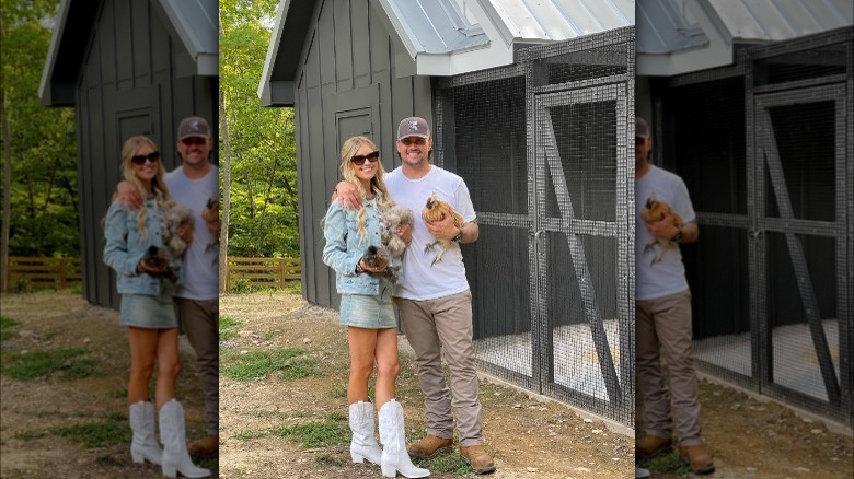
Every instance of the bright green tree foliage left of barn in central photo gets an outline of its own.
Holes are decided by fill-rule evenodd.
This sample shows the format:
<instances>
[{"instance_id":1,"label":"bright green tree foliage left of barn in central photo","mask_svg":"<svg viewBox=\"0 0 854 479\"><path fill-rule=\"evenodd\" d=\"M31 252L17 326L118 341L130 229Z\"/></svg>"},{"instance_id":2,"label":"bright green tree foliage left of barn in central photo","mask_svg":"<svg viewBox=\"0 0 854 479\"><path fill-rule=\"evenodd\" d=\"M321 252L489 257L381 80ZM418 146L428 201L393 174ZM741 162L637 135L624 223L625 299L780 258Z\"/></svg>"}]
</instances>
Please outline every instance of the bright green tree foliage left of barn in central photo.
<instances>
[{"instance_id":1,"label":"bright green tree foliage left of barn in central photo","mask_svg":"<svg viewBox=\"0 0 854 479\"><path fill-rule=\"evenodd\" d=\"M231 166L231 256L299 256L293 110L262 107L256 93L277 4L220 1L220 122L230 137L220 159Z\"/></svg>"}]
</instances>

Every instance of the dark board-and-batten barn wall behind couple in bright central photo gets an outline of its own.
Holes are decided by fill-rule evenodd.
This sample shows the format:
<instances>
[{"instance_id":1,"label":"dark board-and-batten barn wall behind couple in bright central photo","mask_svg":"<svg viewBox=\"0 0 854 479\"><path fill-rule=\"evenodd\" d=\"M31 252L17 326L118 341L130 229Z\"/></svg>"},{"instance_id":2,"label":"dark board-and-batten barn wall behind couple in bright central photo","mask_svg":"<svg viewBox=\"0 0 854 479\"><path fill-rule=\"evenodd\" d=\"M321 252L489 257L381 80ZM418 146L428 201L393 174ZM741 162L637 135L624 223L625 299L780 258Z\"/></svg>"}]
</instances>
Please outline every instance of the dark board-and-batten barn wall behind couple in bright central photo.
<instances>
[{"instance_id":1,"label":"dark board-and-batten barn wall behind couple in bright central photo","mask_svg":"<svg viewBox=\"0 0 854 479\"><path fill-rule=\"evenodd\" d=\"M335 272L323 264L321 220L341 178L341 145L366 135L391 171L400 165L400 120L432 118L430 79L411 73L414 60L381 15L368 0L318 2L295 75L302 292L307 301L335 308L339 296Z\"/></svg>"}]
</instances>

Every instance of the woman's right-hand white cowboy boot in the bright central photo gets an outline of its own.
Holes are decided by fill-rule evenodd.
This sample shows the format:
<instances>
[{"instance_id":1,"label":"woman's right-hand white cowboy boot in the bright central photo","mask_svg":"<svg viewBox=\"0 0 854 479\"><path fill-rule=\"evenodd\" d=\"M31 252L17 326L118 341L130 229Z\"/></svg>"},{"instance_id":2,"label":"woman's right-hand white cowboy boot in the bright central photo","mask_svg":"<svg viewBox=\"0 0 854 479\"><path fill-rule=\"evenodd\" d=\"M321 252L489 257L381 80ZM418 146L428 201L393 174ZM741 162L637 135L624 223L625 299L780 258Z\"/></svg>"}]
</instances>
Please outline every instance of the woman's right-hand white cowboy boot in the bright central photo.
<instances>
[{"instance_id":1,"label":"woman's right-hand white cowboy boot in the bright central photo","mask_svg":"<svg viewBox=\"0 0 854 479\"><path fill-rule=\"evenodd\" d=\"M396 477L427 477L430 471L415 467L406 451L406 428L403 427L403 407L394 399L380 408L380 441L382 441L382 475Z\"/></svg>"}]
</instances>

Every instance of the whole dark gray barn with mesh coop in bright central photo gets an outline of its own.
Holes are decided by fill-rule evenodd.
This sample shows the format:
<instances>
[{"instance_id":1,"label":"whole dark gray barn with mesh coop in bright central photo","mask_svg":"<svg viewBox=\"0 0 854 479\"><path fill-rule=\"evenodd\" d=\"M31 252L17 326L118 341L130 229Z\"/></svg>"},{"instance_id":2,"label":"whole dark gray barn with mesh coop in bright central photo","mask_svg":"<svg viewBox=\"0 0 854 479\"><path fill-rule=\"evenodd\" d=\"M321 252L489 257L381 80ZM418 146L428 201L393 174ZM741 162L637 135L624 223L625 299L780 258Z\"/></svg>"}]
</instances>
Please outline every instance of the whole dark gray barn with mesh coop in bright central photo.
<instances>
[{"instance_id":1,"label":"whole dark gray barn with mesh coop in bright central photo","mask_svg":"<svg viewBox=\"0 0 854 479\"><path fill-rule=\"evenodd\" d=\"M339 301L319 221L341 144L365 133L392 170L397 122L424 116L481 224L478 367L631 427L634 2L577 3L285 0L258 93L296 109L308 301Z\"/></svg>"}]
</instances>

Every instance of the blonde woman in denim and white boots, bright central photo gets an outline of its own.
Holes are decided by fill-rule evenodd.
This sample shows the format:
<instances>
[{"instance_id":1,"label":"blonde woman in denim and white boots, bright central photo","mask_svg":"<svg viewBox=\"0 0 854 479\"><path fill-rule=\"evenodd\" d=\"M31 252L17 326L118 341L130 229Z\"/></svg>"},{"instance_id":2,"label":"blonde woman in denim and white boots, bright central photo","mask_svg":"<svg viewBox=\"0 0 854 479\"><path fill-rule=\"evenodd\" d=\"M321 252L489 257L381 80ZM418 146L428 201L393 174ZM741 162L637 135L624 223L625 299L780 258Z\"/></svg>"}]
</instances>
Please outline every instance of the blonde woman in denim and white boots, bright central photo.
<instances>
[{"instance_id":1,"label":"blonde woman in denim and white boots, bright central photo","mask_svg":"<svg viewBox=\"0 0 854 479\"><path fill-rule=\"evenodd\" d=\"M330 206L324 218L323 262L335 270L335 284L341 299L341 323L347 326L350 350L350 377L347 385L349 423L353 431L350 456L354 463L368 459L382 467L385 477L400 471L407 478L430 475L415 467L406 452L403 408L394 399L394 382L401 365L397 360L397 322L394 317L392 292L388 276L379 274L386 267L366 265L362 255L369 246L382 246L382 213L392 205L377 145L365 137L344 142L341 173L361 194L363 208L358 211ZM406 227L406 226L404 226ZM402 237L408 231L397 233ZM400 261L400 258L393 258ZM372 261L368 261L372 262ZM392 265L397 267L397 265ZM371 274L378 273L378 274ZM368 398L368 381L377 364L376 404ZM373 435L374 409L379 411L380 449Z\"/></svg>"}]
</instances>

